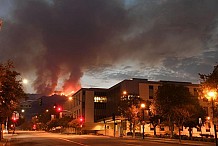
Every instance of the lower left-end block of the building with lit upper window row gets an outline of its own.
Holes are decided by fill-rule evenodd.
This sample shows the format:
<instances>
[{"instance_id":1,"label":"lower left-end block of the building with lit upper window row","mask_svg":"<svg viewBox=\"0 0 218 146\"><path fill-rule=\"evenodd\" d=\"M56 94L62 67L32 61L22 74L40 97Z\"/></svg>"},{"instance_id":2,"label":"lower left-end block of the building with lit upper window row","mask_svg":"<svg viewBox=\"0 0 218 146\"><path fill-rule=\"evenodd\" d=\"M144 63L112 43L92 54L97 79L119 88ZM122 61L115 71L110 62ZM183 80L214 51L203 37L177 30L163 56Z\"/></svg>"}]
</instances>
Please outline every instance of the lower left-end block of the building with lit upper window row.
<instances>
[{"instance_id":1,"label":"lower left-end block of the building with lit upper window row","mask_svg":"<svg viewBox=\"0 0 218 146\"><path fill-rule=\"evenodd\" d=\"M106 104L107 89L81 88L64 108L71 111L73 119L83 119L83 132L95 133L102 127L97 121L107 117Z\"/></svg>"}]
</instances>

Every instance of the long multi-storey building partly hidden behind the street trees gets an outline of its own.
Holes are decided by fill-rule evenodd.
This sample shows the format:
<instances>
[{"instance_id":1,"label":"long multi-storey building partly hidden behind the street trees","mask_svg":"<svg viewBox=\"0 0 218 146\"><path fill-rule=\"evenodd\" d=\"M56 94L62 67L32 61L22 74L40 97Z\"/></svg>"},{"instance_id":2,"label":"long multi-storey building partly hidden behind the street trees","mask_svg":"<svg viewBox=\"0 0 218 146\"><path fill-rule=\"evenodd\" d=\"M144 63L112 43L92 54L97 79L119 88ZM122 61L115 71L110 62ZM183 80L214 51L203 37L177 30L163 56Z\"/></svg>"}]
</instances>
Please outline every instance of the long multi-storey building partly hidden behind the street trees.
<instances>
[{"instance_id":1,"label":"long multi-storey building partly hidden behind the street trees","mask_svg":"<svg viewBox=\"0 0 218 146\"><path fill-rule=\"evenodd\" d=\"M191 94L198 97L199 84L133 78L131 80L123 80L109 89L81 88L73 95L73 100L67 101L67 110L72 112L75 119L84 118L83 131L120 136L130 131L129 123L119 114L121 99L124 96L127 98L140 97L145 101L150 100L152 102L158 87L163 84L186 86ZM200 104L208 111L208 120L201 129L193 129L193 136L200 136L199 134L201 133L209 135L214 131L210 118L212 117L210 103L205 99L199 98L199 100ZM115 121L113 116L115 116ZM146 134L152 135L154 129L151 124L146 124L144 130ZM167 126L159 125L156 128L157 134L165 134L167 131L169 131ZM142 126L137 128L137 132L142 132ZM176 127L174 132L178 132ZM183 128L182 134L188 135L188 129Z\"/></svg>"}]
</instances>

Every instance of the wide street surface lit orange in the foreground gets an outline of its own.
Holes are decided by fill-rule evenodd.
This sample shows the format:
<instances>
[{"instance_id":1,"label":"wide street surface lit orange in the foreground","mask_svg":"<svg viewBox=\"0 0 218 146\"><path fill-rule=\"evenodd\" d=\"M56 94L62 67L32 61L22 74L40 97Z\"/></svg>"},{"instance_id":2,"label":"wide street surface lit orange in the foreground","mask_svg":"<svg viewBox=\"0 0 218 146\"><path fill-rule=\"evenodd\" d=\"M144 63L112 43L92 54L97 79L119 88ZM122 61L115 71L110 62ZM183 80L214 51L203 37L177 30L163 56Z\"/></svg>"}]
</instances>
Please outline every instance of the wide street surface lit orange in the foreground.
<instances>
[{"instance_id":1,"label":"wide street surface lit orange in the foreground","mask_svg":"<svg viewBox=\"0 0 218 146\"><path fill-rule=\"evenodd\" d=\"M198 145L197 143L196 145ZM177 142L113 138L95 135L64 135L46 132L20 131L13 135L11 146L179 146ZM189 145L189 144L188 144ZM191 144L193 145L193 144ZM195 144L194 144L195 145Z\"/></svg>"}]
</instances>

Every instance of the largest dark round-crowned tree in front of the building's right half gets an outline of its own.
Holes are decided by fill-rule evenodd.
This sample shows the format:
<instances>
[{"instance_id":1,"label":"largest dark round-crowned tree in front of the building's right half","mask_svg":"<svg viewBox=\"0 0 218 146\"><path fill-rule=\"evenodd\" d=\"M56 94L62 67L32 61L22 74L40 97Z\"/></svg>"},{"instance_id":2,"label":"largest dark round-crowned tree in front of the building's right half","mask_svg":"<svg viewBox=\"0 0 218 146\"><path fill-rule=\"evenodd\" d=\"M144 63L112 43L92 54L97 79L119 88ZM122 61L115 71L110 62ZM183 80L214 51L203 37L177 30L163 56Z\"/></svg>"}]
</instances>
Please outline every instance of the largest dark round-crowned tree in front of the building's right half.
<instances>
[{"instance_id":1,"label":"largest dark round-crowned tree in front of the building's right half","mask_svg":"<svg viewBox=\"0 0 218 146\"><path fill-rule=\"evenodd\" d=\"M177 126L181 126L181 123L184 122L182 118L189 114L186 105L192 100L192 97L189 89L182 85L163 84L159 87L155 98L156 110L160 116L167 119L171 137L173 136L174 122Z\"/></svg>"}]
</instances>

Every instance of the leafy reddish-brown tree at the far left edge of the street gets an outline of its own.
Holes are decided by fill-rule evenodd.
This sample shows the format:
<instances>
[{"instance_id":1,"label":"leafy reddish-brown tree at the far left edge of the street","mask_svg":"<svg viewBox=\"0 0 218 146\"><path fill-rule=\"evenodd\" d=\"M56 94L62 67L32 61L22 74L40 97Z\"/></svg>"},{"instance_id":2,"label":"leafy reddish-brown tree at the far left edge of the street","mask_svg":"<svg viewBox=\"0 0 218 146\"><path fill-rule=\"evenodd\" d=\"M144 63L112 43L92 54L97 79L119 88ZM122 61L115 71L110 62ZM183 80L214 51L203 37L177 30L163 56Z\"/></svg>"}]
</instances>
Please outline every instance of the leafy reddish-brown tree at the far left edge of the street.
<instances>
[{"instance_id":1,"label":"leafy reddish-brown tree at the far left edge of the street","mask_svg":"<svg viewBox=\"0 0 218 146\"><path fill-rule=\"evenodd\" d=\"M11 117L21 98L26 98L21 84L20 73L15 71L13 63L0 64L0 124ZM1 127L1 126L0 126ZM0 136L1 137L1 136Z\"/></svg>"}]
</instances>

